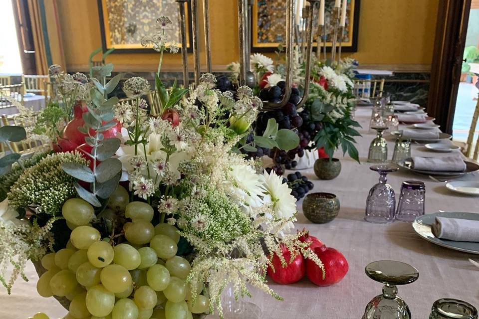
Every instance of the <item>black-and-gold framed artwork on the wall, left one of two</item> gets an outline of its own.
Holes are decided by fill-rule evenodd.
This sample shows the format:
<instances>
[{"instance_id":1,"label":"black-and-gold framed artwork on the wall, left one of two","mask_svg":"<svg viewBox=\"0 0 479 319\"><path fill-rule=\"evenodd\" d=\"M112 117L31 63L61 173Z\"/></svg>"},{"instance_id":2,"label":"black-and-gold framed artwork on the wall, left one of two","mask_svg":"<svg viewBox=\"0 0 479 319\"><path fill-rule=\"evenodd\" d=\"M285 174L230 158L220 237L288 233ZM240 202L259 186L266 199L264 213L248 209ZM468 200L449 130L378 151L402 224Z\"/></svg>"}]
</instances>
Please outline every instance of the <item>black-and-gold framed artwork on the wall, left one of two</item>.
<instances>
[{"instance_id":1,"label":"black-and-gold framed artwork on the wall, left one of two","mask_svg":"<svg viewBox=\"0 0 479 319\"><path fill-rule=\"evenodd\" d=\"M185 2L188 12L187 46L193 47L191 30L191 10ZM172 21L169 37L172 42L181 43L178 2L172 0L98 0L100 31L103 51L115 48L115 53L151 52L144 47L140 38L153 35L156 19L168 16ZM180 49L181 50L181 49Z\"/></svg>"}]
</instances>

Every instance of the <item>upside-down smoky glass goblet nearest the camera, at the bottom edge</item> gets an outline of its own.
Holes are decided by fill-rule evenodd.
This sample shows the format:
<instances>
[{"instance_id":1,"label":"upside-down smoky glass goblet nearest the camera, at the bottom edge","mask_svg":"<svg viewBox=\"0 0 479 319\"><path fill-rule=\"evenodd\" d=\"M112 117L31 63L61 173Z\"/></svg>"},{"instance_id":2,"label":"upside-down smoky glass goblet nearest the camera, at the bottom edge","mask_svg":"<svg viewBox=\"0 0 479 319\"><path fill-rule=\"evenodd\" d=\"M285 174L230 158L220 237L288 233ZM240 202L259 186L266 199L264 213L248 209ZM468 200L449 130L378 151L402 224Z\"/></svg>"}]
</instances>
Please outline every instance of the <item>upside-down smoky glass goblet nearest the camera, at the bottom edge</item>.
<instances>
[{"instance_id":1,"label":"upside-down smoky glass goblet nearest the camera, at the bottom edge","mask_svg":"<svg viewBox=\"0 0 479 319\"><path fill-rule=\"evenodd\" d=\"M414 283L419 272L406 263L394 260L380 260L365 268L366 275L383 283L383 293L374 297L366 306L362 319L411 319L411 311L406 302L398 297L397 285Z\"/></svg>"}]
</instances>

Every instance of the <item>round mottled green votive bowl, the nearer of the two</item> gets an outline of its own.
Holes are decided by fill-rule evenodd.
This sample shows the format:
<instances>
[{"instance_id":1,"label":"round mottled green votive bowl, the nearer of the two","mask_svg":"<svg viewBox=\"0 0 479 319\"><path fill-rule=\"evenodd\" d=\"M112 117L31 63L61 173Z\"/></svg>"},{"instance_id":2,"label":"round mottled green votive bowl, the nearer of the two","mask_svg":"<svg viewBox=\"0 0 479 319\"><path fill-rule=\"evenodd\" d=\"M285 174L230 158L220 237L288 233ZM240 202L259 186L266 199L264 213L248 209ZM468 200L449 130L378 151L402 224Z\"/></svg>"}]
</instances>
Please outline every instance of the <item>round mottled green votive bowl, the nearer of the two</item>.
<instances>
[{"instance_id":1,"label":"round mottled green votive bowl, the nearer of the two","mask_svg":"<svg viewBox=\"0 0 479 319\"><path fill-rule=\"evenodd\" d=\"M328 223L339 213L339 199L331 193L311 193L304 198L303 214L316 224Z\"/></svg>"}]
</instances>

